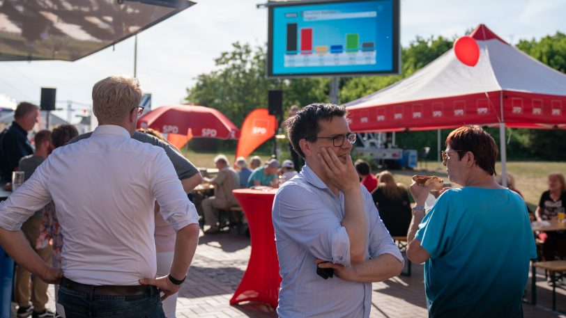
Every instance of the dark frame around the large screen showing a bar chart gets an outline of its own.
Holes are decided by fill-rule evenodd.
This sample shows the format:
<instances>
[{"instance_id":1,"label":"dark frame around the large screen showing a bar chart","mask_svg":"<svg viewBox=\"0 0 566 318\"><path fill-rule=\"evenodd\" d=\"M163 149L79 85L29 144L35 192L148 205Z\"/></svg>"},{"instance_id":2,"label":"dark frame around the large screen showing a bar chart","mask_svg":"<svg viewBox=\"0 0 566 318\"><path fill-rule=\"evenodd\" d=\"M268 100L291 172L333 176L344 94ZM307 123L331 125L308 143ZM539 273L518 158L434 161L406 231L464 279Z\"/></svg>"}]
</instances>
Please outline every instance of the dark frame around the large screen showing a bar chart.
<instances>
[{"instance_id":1,"label":"dark frame around the large screen showing a bar chart","mask_svg":"<svg viewBox=\"0 0 566 318\"><path fill-rule=\"evenodd\" d=\"M381 0L313 0L313 1L293 1L282 3L268 3L268 47L267 47L267 61L266 61L266 77L268 79L292 79L300 77L356 77L356 76L369 76L369 75L398 75L401 74L401 42L399 39L399 29L401 23L400 17L400 0L392 1L392 69L383 71L356 71L356 72L309 72L309 73L284 73L273 74L273 10L280 7L291 6L312 6L319 4L329 3L351 3L351 2L367 2L367 1L381 1Z\"/></svg>"}]
</instances>

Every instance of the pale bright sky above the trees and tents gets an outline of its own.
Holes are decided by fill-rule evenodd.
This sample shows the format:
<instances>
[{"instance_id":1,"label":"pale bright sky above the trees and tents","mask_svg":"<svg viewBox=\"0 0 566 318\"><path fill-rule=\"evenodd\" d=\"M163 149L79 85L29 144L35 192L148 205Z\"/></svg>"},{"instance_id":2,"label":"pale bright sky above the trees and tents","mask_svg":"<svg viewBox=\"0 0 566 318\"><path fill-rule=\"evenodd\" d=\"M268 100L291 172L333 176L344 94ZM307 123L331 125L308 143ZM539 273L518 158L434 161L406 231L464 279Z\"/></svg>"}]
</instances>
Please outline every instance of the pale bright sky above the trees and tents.
<instances>
[{"instance_id":1,"label":"pale bright sky above the trees and tents","mask_svg":"<svg viewBox=\"0 0 566 318\"><path fill-rule=\"evenodd\" d=\"M231 43L267 42L266 8L259 0L199 0L197 4L137 36L137 77L152 106L182 104L198 74L214 70L214 59ZM401 45L416 36L448 38L486 24L512 44L566 33L566 0L401 0ZM58 108L72 101L71 117L90 107L93 84L112 74L133 76L134 39L75 62L0 62L0 95L38 103L41 87L57 89ZM59 116L67 118L66 112ZM73 120L73 121L76 121Z\"/></svg>"}]
</instances>

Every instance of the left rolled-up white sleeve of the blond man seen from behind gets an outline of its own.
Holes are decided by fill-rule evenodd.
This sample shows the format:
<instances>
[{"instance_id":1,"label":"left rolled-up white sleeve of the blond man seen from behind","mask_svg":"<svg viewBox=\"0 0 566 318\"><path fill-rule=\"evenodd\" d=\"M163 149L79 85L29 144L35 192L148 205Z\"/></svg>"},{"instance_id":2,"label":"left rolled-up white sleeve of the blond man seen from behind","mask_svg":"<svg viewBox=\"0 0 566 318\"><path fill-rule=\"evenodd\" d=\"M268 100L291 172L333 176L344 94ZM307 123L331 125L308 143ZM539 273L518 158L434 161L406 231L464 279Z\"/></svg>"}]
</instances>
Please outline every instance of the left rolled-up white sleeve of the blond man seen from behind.
<instances>
[{"instance_id":1,"label":"left rolled-up white sleeve of the blond man seen from behind","mask_svg":"<svg viewBox=\"0 0 566 318\"><path fill-rule=\"evenodd\" d=\"M32 214L52 200L48 191L49 159L43 161L31 177L0 202L0 228L16 231Z\"/></svg>"}]
</instances>

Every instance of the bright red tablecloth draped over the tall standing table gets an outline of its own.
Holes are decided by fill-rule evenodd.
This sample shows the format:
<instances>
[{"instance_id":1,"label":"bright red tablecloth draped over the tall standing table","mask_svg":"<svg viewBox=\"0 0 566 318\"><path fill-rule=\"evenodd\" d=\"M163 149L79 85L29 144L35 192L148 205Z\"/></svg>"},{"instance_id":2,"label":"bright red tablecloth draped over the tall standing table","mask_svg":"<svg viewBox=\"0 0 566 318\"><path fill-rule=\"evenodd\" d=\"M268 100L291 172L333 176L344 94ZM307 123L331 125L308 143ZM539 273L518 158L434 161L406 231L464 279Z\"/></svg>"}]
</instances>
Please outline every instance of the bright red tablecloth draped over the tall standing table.
<instances>
[{"instance_id":1,"label":"bright red tablecloth draped over the tall standing table","mask_svg":"<svg viewBox=\"0 0 566 318\"><path fill-rule=\"evenodd\" d=\"M281 276L271 221L275 190L236 189L233 192L250 226L252 251L242 281L230 303L259 301L277 307Z\"/></svg>"}]
</instances>

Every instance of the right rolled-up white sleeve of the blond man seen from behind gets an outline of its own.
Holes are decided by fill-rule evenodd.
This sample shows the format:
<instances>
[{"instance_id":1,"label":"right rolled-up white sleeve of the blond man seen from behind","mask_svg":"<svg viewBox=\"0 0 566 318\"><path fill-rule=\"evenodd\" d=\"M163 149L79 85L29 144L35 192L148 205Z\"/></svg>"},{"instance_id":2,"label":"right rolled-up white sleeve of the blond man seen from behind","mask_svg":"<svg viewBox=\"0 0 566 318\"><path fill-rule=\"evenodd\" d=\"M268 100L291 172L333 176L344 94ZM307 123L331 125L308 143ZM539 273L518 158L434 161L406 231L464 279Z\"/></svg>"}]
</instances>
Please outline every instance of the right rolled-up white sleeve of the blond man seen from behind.
<instances>
[{"instance_id":1,"label":"right rolled-up white sleeve of the blond man seen from behind","mask_svg":"<svg viewBox=\"0 0 566 318\"><path fill-rule=\"evenodd\" d=\"M197 209L187 198L173 164L163 150L155 158L152 193L160 206L160 214L171 224L173 230L178 231L187 225L199 223Z\"/></svg>"}]
</instances>

